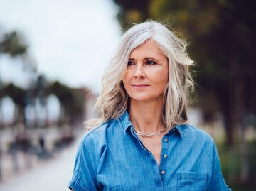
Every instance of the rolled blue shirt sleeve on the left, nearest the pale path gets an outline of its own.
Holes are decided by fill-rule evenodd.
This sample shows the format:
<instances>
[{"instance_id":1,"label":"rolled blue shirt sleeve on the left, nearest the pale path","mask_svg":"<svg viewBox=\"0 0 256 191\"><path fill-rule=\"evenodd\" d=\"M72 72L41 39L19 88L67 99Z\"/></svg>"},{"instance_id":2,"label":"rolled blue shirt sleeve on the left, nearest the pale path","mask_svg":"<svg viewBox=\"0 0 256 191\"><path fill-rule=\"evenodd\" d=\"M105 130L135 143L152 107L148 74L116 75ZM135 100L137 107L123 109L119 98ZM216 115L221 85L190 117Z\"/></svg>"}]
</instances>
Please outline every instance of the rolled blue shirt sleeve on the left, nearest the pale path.
<instances>
[{"instance_id":1,"label":"rolled blue shirt sleeve on the left, nearest the pale path","mask_svg":"<svg viewBox=\"0 0 256 191\"><path fill-rule=\"evenodd\" d=\"M90 141L81 141L75 157L73 177L68 183L68 188L70 190L99 190L96 180L97 160L93 148L94 146Z\"/></svg>"}]
</instances>

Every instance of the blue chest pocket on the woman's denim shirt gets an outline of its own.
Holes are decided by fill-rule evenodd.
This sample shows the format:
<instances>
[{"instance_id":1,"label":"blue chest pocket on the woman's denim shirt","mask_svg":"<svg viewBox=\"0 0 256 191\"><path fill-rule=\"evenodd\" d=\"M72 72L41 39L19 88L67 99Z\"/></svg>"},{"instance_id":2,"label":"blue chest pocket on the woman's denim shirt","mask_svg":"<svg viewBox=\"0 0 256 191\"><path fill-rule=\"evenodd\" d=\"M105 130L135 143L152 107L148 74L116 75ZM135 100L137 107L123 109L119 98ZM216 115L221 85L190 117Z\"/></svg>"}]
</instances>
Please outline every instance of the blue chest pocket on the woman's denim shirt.
<instances>
[{"instance_id":1,"label":"blue chest pocket on the woman's denim shirt","mask_svg":"<svg viewBox=\"0 0 256 191\"><path fill-rule=\"evenodd\" d=\"M206 187L206 173L177 173L177 191L204 191L206 190Z\"/></svg>"}]
</instances>

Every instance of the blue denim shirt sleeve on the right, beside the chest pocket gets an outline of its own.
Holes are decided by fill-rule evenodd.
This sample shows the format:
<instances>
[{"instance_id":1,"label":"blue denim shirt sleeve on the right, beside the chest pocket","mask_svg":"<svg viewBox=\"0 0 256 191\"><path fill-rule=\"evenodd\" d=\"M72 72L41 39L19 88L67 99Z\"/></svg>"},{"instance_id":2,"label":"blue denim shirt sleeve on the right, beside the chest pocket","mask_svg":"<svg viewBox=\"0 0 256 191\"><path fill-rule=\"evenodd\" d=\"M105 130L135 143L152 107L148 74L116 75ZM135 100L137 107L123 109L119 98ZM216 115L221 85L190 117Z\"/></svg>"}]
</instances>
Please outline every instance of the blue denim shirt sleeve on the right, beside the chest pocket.
<instances>
[{"instance_id":1,"label":"blue denim shirt sleeve on the right, beside the chest pocket","mask_svg":"<svg viewBox=\"0 0 256 191\"><path fill-rule=\"evenodd\" d=\"M228 185L226 185L221 173L220 158L218 155L217 148L213 142L213 171L210 182L210 191L232 191Z\"/></svg>"}]
</instances>

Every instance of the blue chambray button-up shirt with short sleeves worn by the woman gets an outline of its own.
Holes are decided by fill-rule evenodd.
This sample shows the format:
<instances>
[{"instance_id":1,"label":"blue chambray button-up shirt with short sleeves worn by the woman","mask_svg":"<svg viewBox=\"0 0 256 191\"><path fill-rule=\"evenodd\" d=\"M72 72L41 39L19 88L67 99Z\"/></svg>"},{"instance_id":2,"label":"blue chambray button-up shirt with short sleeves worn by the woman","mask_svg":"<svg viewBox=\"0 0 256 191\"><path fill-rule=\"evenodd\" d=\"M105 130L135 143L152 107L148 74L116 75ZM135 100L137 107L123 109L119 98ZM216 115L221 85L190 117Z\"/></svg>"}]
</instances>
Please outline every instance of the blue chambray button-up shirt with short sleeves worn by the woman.
<instances>
[{"instance_id":1,"label":"blue chambray button-up shirt with short sleeves worn by the woman","mask_svg":"<svg viewBox=\"0 0 256 191\"><path fill-rule=\"evenodd\" d=\"M68 187L85 190L231 190L207 133L188 124L174 126L162 140L161 163L134 133L125 112L85 133Z\"/></svg>"}]
</instances>

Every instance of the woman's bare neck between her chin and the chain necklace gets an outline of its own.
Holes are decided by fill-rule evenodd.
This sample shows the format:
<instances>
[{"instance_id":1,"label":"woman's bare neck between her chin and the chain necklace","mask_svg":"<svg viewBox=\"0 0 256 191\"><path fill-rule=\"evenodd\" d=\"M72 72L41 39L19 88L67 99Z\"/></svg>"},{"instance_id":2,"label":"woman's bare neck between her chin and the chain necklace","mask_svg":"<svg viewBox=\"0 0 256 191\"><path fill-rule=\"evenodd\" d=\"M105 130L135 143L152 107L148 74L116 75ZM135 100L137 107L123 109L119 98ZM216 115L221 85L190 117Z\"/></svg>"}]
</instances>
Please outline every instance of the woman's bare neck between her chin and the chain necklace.
<instances>
[{"instance_id":1,"label":"woman's bare neck between her chin and the chain necklace","mask_svg":"<svg viewBox=\"0 0 256 191\"><path fill-rule=\"evenodd\" d=\"M155 133L164 129L161 122L162 99L150 102L130 101L129 118L137 131Z\"/></svg>"}]
</instances>

